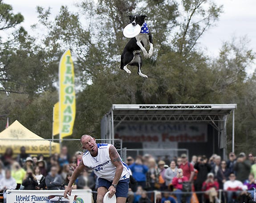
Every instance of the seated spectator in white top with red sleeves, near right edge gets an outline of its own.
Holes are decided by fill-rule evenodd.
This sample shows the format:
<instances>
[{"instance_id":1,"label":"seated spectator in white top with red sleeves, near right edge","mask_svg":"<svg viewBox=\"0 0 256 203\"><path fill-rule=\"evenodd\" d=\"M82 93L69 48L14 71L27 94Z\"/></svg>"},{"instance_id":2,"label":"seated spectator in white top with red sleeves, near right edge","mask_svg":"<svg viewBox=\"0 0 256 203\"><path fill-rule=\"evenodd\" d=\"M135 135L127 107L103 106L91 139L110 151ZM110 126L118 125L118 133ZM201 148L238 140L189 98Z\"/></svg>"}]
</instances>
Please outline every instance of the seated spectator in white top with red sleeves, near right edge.
<instances>
[{"instance_id":1,"label":"seated spectator in white top with red sleeves, near right edge","mask_svg":"<svg viewBox=\"0 0 256 203\"><path fill-rule=\"evenodd\" d=\"M227 191L228 203L232 202L233 197L238 197L242 191L247 190L247 186L239 180L236 180L236 175L232 172L229 175L229 180L224 183L224 191Z\"/></svg>"}]
</instances>

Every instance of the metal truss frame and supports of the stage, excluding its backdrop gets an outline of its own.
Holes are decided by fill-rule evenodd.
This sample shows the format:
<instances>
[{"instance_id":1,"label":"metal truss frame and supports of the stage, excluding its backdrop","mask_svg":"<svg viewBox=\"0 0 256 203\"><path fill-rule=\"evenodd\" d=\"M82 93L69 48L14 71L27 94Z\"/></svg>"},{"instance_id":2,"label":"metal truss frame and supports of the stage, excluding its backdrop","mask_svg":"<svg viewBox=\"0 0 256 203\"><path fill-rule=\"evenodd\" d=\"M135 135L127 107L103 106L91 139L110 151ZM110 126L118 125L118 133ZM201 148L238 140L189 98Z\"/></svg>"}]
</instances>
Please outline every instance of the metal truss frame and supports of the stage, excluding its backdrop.
<instances>
[{"instance_id":1,"label":"metal truss frame and supports of the stage, excluding its backdrop","mask_svg":"<svg viewBox=\"0 0 256 203\"><path fill-rule=\"evenodd\" d=\"M113 104L110 111L102 118L101 134L104 139L114 139L114 130L123 122L207 123L218 131L219 148L223 149L225 156L227 150L226 124L228 115L231 113L233 114L232 151L234 151L235 109L236 104Z\"/></svg>"}]
</instances>

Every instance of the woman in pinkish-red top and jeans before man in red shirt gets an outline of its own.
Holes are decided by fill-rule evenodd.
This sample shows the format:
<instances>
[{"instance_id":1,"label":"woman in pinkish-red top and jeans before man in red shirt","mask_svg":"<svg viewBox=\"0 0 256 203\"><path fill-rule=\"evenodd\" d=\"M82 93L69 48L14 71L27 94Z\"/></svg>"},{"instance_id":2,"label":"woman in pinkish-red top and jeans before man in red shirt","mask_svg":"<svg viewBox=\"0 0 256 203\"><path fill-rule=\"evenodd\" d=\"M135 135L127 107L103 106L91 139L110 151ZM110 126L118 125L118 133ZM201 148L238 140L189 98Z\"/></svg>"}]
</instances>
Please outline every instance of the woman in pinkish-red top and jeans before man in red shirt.
<instances>
[{"instance_id":1,"label":"woman in pinkish-red top and jeans before man in red shirt","mask_svg":"<svg viewBox=\"0 0 256 203\"><path fill-rule=\"evenodd\" d=\"M183 176L183 170L181 168L177 171L177 176L172 179L172 185L175 188L175 195L177 197L178 203L181 203L182 199L182 189L183 189L183 182L188 182L186 176ZM190 203L191 195L186 194L186 203Z\"/></svg>"}]
</instances>

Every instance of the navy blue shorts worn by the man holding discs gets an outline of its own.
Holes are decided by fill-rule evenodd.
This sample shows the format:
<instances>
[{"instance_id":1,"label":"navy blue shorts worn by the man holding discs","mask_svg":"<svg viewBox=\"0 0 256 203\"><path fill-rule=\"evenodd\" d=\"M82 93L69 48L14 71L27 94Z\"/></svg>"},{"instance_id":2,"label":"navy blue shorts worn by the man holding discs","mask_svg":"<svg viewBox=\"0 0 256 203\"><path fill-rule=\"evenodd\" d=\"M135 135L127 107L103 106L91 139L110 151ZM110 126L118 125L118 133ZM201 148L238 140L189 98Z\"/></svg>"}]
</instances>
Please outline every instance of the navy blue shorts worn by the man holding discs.
<instances>
[{"instance_id":1,"label":"navy blue shorts worn by the man holding discs","mask_svg":"<svg viewBox=\"0 0 256 203\"><path fill-rule=\"evenodd\" d=\"M106 180L99 178L99 186L98 187L106 187L109 189L109 187L112 184L112 181ZM130 179L124 179L124 180L119 180L117 188L116 188L116 197L126 197L128 196L128 190L129 190L129 181Z\"/></svg>"}]
</instances>

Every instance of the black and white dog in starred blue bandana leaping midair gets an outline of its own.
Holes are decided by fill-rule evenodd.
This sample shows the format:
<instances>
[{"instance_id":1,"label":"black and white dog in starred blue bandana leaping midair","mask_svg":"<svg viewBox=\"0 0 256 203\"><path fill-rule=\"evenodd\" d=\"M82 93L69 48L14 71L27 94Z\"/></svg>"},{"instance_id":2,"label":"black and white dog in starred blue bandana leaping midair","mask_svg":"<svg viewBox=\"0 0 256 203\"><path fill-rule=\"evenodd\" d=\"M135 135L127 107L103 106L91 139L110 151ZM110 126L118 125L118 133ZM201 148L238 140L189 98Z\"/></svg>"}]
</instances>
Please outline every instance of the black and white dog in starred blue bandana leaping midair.
<instances>
[{"instance_id":1,"label":"black and white dog in starred blue bandana leaping midair","mask_svg":"<svg viewBox=\"0 0 256 203\"><path fill-rule=\"evenodd\" d=\"M130 18L130 23L132 25L139 24L142 27L141 32L134 38L131 38L130 41L125 46L123 53L121 55L121 66L122 70L125 70L126 73L130 74L131 71L127 68L128 65L137 66L138 74L141 77L147 78L147 75L141 72L142 66L142 56L140 52L143 52L145 58L152 57L153 54L153 40L149 28L145 23L145 15L134 15L128 16ZM143 25L143 26L142 26ZM150 45L149 52L146 51L146 46Z\"/></svg>"}]
</instances>

